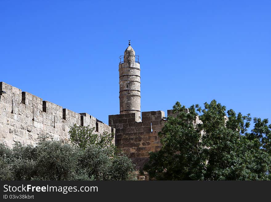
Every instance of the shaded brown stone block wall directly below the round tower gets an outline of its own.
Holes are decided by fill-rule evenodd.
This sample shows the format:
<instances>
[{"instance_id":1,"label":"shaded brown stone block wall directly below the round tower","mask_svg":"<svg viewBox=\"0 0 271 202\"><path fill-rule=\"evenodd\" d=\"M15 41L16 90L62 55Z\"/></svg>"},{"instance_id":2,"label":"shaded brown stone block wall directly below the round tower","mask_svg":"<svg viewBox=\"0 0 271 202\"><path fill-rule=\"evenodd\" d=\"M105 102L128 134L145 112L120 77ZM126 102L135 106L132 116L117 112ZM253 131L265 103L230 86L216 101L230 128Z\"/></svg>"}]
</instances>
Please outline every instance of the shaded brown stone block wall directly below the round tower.
<instances>
[{"instance_id":1,"label":"shaded brown stone block wall directly below the round tower","mask_svg":"<svg viewBox=\"0 0 271 202\"><path fill-rule=\"evenodd\" d=\"M149 160L149 152L161 148L158 132L166 120L163 111L142 112L142 122L136 122L136 114L110 115L109 125L116 129L115 145L122 149L141 170Z\"/></svg>"}]
</instances>

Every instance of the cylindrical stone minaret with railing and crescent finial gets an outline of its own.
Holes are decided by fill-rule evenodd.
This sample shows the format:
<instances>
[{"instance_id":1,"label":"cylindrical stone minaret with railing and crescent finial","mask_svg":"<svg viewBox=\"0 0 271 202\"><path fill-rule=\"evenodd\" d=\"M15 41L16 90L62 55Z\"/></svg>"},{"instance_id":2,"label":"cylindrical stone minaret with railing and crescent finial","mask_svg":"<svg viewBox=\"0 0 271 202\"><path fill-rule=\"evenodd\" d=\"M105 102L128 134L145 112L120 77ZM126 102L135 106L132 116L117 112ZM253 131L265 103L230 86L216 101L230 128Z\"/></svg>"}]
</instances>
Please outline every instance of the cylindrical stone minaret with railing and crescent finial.
<instances>
[{"instance_id":1,"label":"cylindrical stone minaret with railing and crescent finial","mask_svg":"<svg viewBox=\"0 0 271 202\"><path fill-rule=\"evenodd\" d=\"M136 113L140 122L140 63L130 45L129 40L124 56L119 57L119 113Z\"/></svg>"}]
</instances>

